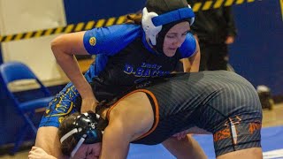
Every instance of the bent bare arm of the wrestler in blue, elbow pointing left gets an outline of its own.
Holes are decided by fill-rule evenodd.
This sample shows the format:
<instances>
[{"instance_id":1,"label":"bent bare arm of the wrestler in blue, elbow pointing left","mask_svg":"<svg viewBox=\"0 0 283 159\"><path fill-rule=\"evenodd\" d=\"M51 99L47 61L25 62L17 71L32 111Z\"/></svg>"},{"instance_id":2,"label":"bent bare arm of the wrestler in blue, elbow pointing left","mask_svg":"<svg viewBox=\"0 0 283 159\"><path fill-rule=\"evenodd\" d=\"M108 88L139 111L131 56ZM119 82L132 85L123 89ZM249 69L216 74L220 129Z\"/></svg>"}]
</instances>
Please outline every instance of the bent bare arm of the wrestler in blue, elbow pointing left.
<instances>
[{"instance_id":1,"label":"bent bare arm of the wrestler in blue, elbow pointing left","mask_svg":"<svg viewBox=\"0 0 283 159\"><path fill-rule=\"evenodd\" d=\"M74 55L89 55L83 44L84 34L85 32L63 34L51 42L51 49L57 64L80 93L82 98L80 112L82 113L95 108L97 102L92 88L80 72L80 66L74 57Z\"/></svg>"}]
</instances>

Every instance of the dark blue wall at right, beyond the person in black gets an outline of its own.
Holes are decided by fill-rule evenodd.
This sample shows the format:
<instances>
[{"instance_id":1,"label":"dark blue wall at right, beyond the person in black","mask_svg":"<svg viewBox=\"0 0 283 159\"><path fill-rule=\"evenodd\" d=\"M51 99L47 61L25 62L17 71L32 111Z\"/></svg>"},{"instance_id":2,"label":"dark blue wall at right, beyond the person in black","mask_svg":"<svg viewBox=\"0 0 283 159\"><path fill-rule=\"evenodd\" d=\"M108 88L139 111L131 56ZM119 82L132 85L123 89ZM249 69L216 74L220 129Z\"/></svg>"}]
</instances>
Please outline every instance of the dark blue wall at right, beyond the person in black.
<instances>
[{"instance_id":1,"label":"dark blue wall at right, beyond the person in black","mask_svg":"<svg viewBox=\"0 0 283 159\"><path fill-rule=\"evenodd\" d=\"M282 9L283 10L283 9ZM239 35L230 47L230 63L256 87L283 95L283 19L279 0L233 7Z\"/></svg>"}]
</instances>

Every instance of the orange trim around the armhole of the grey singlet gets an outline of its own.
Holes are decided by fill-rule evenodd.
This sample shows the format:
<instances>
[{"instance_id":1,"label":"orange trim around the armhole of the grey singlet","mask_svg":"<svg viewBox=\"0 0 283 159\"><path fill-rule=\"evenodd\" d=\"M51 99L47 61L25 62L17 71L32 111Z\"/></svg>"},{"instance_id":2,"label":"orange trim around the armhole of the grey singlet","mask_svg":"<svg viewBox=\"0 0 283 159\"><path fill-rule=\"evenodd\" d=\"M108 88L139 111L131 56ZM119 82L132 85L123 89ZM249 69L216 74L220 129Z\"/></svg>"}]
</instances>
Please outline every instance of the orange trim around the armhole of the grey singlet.
<instances>
[{"instance_id":1,"label":"orange trim around the armhole of the grey singlet","mask_svg":"<svg viewBox=\"0 0 283 159\"><path fill-rule=\"evenodd\" d=\"M121 99L119 99L118 102L115 102L115 103L111 106L111 108L107 111L106 117L107 117L108 120L109 120L109 119L110 119L109 116L110 116L111 110L113 110L113 108L114 108L121 100L125 99L128 95L132 95L132 94L137 93L137 92L143 92L143 93L146 93L146 94L150 95L150 97L152 98L152 100L153 100L153 102L154 102L154 106L155 106L155 122L154 122L154 124L152 125L152 127L150 128L149 132L144 133L142 136L140 136L139 138L136 139L136 140L140 140L140 139L142 139L142 138L148 136L148 135L149 135L150 133L152 133L153 131L155 131L156 128L157 128L157 125L158 125L158 123L159 123L159 105L158 105L156 96L153 95L152 92L150 92L150 91L147 90L147 89L137 89L137 90L134 90L133 92L131 92L131 93L129 93L129 94L123 96ZM151 102L150 102L150 103L151 103Z\"/></svg>"}]
</instances>

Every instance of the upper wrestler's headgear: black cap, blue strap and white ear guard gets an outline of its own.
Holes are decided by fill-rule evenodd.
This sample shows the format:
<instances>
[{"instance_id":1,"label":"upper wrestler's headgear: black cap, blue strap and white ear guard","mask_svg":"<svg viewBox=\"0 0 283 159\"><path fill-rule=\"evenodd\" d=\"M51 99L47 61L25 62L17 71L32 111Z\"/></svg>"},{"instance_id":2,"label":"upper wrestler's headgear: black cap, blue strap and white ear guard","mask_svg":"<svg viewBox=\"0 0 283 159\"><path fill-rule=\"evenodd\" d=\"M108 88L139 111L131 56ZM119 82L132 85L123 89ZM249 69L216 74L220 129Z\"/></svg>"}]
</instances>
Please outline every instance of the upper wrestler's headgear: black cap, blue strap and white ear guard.
<instances>
[{"instance_id":1,"label":"upper wrestler's headgear: black cap, blue strap and white ear guard","mask_svg":"<svg viewBox=\"0 0 283 159\"><path fill-rule=\"evenodd\" d=\"M165 25L188 21L191 26L194 20L195 13L186 0L148 0L142 10L142 28L152 45L157 45L157 34L170 29L163 29Z\"/></svg>"}]
</instances>

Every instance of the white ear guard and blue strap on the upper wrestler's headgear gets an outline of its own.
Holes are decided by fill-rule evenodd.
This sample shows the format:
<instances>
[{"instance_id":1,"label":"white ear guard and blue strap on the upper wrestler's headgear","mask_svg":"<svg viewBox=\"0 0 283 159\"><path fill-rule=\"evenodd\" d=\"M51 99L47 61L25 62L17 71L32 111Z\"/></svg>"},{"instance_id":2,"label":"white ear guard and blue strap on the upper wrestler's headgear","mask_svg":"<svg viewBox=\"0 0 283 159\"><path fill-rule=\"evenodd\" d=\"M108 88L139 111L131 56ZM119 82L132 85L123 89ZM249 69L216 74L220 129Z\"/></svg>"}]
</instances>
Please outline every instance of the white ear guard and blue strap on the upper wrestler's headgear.
<instances>
[{"instance_id":1,"label":"white ear guard and blue strap on the upper wrestler's headgear","mask_svg":"<svg viewBox=\"0 0 283 159\"><path fill-rule=\"evenodd\" d=\"M157 44L157 34L162 26L180 19L190 19L189 25L192 26L195 21L195 13L190 5L187 8L169 11L158 15L156 12L149 12L146 7L142 10L142 29L152 45Z\"/></svg>"}]
</instances>

